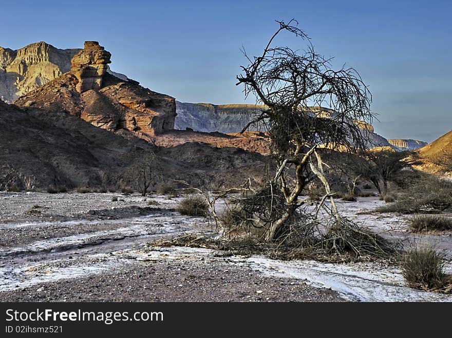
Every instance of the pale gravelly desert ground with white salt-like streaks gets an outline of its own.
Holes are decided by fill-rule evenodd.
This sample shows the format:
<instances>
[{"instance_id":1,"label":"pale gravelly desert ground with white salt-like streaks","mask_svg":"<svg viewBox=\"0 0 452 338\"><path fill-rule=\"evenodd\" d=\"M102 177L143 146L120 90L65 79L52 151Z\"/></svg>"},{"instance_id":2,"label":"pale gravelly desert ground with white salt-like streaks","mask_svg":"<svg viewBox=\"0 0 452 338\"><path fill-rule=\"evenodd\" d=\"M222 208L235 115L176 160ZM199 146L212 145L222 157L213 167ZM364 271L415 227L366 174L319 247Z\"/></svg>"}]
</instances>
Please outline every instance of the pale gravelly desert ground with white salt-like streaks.
<instances>
[{"instance_id":1,"label":"pale gravelly desert ground with white salt-like streaks","mask_svg":"<svg viewBox=\"0 0 452 338\"><path fill-rule=\"evenodd\" d=\"M175 210L182 198L0 192L0 301L452 301L450 294L408 288L391 263L279 261L150 245L186 233L218 235L204 218ZM452 273L452 234L413 235L409 216L372 212L384 203L337 201L343 215L392 241L416 239L445 250L445 271Z\"/></svg>"}]
</instances>

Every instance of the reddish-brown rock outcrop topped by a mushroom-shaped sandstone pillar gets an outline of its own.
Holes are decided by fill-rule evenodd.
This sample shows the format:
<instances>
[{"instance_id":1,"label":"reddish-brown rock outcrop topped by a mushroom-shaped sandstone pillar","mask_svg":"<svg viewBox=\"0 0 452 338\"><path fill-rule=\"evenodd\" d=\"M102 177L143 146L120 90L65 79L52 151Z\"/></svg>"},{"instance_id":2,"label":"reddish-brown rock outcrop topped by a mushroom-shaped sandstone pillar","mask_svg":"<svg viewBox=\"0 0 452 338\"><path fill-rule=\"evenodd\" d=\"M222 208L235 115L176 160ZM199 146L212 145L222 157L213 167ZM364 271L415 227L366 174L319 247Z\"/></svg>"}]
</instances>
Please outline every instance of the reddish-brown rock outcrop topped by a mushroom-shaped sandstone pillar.
<instances>
[{"instance_id":1,"label":"reddish-brown rock outcrop topped by a mushroom-shaped sandstone pillar","mask_svg":"<svg viewBox=\"0 0 452 338\"><path fill-rule=\"evenodd\" d=\"M125 76L112 75L111 54L97 42L72 58L69 72L30 91L14 103L48 112L66 112L109 131L126 130L150 140L174 129L173 97L143 88Z\"/></svg>"}]
</instances>

